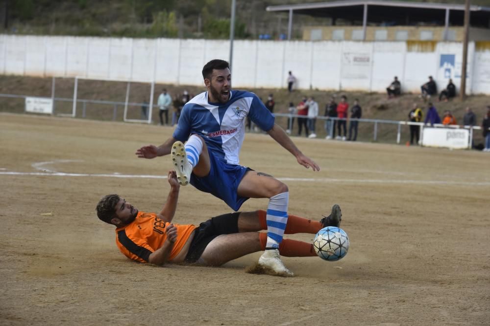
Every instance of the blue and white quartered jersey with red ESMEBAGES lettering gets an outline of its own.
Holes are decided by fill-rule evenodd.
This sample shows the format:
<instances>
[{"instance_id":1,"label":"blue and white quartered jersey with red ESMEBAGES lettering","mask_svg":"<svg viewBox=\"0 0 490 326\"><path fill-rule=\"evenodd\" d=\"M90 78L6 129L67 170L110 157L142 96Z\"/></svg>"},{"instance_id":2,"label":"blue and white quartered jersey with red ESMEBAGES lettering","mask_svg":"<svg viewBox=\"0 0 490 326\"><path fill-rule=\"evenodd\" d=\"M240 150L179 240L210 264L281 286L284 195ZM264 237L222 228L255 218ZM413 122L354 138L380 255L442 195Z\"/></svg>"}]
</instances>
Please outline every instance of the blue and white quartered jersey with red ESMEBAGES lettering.
<instances>
[{"instance_id":1,"label":"blue and white quartered jersey with red ESMEBAGES lettering","mask_svg":"<svg viewBox=\"0 0 490 326\"><path fill-rule=\"evenodd\" d=\"M208 102L208 92L203 92L182 108L173 138L185 142L198 134L217 157L239 164L247 116L264 131L274 126L274 116L254 93L230 90L230 99L221 104Z\"/></svg>"}]
</instances>

